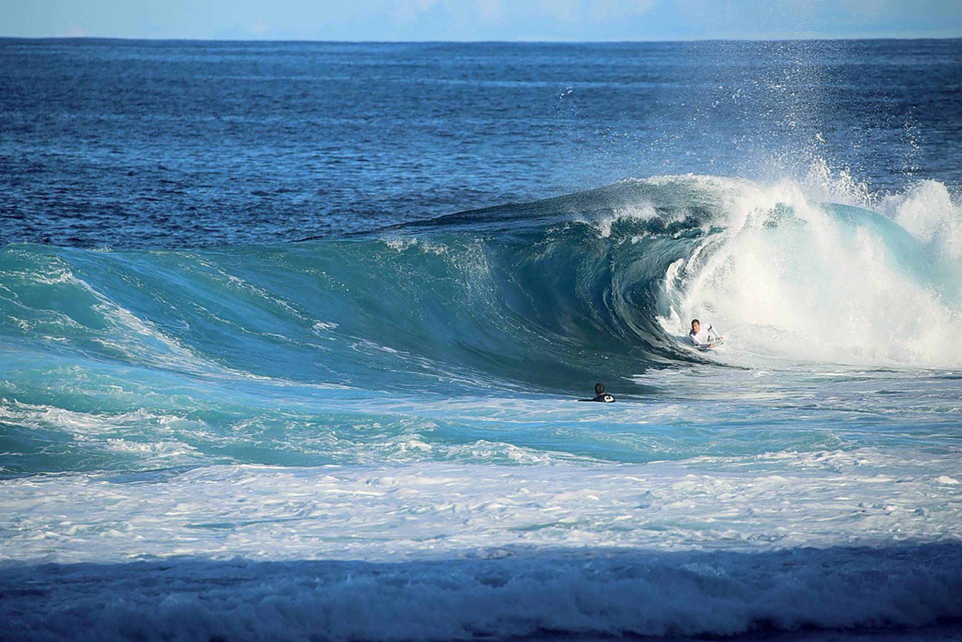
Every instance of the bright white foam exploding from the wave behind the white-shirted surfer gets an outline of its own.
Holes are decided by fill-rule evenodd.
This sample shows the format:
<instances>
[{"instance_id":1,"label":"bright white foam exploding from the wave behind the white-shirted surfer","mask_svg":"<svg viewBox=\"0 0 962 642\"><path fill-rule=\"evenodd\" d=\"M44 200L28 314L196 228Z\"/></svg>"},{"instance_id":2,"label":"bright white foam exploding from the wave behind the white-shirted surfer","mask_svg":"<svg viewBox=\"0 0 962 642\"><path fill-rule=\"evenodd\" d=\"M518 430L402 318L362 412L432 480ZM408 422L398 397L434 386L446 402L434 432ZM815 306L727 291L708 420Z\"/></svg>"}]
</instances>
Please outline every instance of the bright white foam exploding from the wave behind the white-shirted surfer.
<instances>
[{"instance_id":1,"label":"bright white foam exploding from the wave behind the white-shirted surfer","mask_svg":"<svg viewBox=\"0 0 962 642\"><path fill-rule=\"evenodd\" d=\"M886 237L884 227L840 220L810 200L802 185L684 180L722 191L726 231L672 265L666 276L671 312L662 318L670 333L686 333L688 319L700 317L743 354L927 367L962 363L962 344L955 340L962 292L940 291L921 251L917 258L900 256L897 239ZM952 258L959 244L953 230L962 229L962 216L945 187L920 185L887 203L899 225L948 261L949 284L962 283Z\"/></svg>"}]
</instances>

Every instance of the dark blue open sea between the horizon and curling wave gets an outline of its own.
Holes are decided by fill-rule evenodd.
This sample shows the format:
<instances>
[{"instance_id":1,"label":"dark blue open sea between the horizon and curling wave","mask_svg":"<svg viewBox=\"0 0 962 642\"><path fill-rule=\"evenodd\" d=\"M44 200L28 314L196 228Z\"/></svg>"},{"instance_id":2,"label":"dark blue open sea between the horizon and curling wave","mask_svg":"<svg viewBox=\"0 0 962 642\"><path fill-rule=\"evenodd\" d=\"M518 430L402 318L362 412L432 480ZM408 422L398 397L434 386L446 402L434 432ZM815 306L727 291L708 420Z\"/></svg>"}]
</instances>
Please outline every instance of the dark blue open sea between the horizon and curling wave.
<instances>
[{"instance_id":1,"label":"dark blue open sea between the horizon and curling wave","mask_svg":"<svg viewBox=\"0 0 962 642\"><path fill-rule=\"evenodd\" d=\"M959 40L0 43L0 239L287 242L655 174L959 163Z\"/></svg>"}]
</instances>

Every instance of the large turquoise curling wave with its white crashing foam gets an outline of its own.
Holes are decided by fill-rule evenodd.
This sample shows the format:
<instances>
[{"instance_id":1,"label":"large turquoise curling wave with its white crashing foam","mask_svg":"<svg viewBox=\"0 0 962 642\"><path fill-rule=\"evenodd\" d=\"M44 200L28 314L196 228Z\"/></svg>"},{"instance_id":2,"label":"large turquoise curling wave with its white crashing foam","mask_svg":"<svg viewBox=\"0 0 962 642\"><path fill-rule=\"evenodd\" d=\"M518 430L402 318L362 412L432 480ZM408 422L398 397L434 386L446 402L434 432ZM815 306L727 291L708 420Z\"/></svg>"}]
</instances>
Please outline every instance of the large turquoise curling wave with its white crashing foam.
<instances>
[{"instance_id":1,"label":"large turquoise curling wave with its white crashing foam","mask_svg":"<svg viewBox=\"0 0 962 642\"><path fill-rule=\"evenodd\" d=\"M12 245L0 332L38 354L368 390L569 394L701 359L693 316L740 363L957 365L962 214L939 184L881 205L893 217L796 184L663 177L277 247Z\"/></svg>"}]
</instances>

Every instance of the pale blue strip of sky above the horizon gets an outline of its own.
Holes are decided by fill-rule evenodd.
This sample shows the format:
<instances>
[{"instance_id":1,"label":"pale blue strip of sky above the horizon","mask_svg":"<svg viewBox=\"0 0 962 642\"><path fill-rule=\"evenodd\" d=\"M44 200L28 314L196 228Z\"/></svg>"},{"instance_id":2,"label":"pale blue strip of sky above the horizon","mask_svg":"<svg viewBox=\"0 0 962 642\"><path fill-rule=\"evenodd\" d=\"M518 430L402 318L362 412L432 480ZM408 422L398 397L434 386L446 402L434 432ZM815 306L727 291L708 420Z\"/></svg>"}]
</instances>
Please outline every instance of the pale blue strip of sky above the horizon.
<instances>
[{"instance_id":1,"label":"pale blue strip of sky above the horizon","mask_svg":"<svg viewBox=\"0 0 962 642\"><path fill-rule=\"evenodd\" d=\"M0 37L962 37L962 0L0 0Z\"/></svg>"}]
</instances>

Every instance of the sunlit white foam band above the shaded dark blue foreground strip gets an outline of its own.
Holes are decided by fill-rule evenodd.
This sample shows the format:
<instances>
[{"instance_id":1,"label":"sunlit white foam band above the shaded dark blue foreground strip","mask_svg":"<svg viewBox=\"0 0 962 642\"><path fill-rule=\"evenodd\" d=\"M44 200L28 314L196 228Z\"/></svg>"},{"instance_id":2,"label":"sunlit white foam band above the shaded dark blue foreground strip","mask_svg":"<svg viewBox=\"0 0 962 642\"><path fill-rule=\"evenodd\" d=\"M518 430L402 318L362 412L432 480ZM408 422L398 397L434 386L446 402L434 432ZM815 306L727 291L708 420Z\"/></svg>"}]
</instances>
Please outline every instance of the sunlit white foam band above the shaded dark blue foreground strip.
<instances>
[{"instance_id":1,"label":"sunlit white foam band above the shaded dark blue foreground strip","mask_svg":"<svg viewBox=\"0 0 962 642\"><path fill-rule=\"evenodd\" d=\"M962 538L962 490L949 481L960 476L956 455L861 449L646 465L421 461L35 477L4 482L2 557L390 561L492 547L756 552L939 541Z\"/></svg>"}]
</instances>

